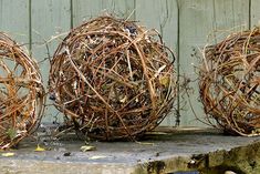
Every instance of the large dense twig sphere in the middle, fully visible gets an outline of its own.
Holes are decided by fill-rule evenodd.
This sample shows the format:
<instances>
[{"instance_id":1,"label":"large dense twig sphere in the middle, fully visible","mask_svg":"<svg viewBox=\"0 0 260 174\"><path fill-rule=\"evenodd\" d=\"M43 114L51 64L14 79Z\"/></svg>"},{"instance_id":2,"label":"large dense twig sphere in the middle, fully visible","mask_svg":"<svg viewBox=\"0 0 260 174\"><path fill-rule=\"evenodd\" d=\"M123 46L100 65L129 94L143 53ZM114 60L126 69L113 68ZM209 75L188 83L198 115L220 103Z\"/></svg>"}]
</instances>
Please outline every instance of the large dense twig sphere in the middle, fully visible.
<instances>
[{"instance_id":1,"label":"large dense twig sphere in the middle, fully visible","mask_svg":"<svg viewBox=\"0 0 260 174\"><path fill-rule=\"evenodd\" d=\"M97 140L134 139L154 129L176 94L173 54L155 37L112 17L73 29L51 62L56 108Z\"/></svg>"}]
</instances>

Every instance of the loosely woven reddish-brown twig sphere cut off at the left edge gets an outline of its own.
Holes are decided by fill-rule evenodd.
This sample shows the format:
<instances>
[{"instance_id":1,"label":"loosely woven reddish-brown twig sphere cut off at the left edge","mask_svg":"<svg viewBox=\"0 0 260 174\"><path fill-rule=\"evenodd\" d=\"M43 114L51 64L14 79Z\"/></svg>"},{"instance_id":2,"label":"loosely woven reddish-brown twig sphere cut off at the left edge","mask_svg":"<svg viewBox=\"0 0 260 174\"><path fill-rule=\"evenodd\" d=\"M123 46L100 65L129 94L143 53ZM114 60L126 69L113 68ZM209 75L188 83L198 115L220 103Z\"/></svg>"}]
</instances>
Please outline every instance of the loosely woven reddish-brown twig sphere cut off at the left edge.
<instances>
[{"instance_id":1,"label":"loosely woven reddish-brown twig sphere cut off at the left edge","mask_svg":"<svg viewBox=\"0 0 260 174\"><path fill-rule=\"evenodd\" d=\"M0 32L0 149L15 145L34 130L43 93L37 63Z\"/></svg>"}]
</instances>

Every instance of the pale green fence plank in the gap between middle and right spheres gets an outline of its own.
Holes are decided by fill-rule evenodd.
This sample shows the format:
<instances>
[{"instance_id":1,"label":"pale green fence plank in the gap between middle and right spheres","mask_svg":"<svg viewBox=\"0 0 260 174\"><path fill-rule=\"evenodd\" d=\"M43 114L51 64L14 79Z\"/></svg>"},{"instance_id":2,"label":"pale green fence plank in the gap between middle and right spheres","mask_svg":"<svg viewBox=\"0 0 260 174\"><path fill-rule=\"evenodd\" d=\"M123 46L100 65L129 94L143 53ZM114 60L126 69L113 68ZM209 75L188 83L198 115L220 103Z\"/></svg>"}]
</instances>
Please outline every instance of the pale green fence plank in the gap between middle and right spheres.
<instances>
[{"instance_id":1,"label":"pale green fence plank in the gap between middle and right spheres","mask_svg":"<svg viewBox=\"0 0 260 174\"><path fill-rule=\"evenodd\" d=\"M180 74L196 80L194 64L198 59L191 57L197 48L207 42L207 34L214 30L214 1L212 0L179 0L179 60ZM180 125L198 125L191 112L189 101L198 115L202 115L201 104L198 102L197 82L189 84L190 98L184 95L185 108L180 111ZM181 89L184 90L184 89ZM201 125L201 124L200 124Z\"/></svg>"}]
</instances>

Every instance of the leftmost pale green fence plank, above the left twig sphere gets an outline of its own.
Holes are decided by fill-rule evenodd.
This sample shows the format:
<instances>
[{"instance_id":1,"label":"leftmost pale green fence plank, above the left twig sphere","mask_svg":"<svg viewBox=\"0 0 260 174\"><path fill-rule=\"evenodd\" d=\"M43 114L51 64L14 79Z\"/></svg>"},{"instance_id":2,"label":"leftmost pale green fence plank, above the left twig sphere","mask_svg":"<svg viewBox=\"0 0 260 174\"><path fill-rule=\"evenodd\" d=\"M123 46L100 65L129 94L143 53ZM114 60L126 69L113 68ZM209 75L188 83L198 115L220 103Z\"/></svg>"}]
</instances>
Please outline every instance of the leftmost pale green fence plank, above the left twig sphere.
<instances>
[{"instance_id":1,"label":"leftmost pale green fence plank, above the left twig sphere","mask_svg":"<svg viewBox=\"0 0 260 174\"><path fill-rule=\"evenodd\" d=\"M0 0L0 31L29 43L29 1Z\"/></svg>"}]
</instances>

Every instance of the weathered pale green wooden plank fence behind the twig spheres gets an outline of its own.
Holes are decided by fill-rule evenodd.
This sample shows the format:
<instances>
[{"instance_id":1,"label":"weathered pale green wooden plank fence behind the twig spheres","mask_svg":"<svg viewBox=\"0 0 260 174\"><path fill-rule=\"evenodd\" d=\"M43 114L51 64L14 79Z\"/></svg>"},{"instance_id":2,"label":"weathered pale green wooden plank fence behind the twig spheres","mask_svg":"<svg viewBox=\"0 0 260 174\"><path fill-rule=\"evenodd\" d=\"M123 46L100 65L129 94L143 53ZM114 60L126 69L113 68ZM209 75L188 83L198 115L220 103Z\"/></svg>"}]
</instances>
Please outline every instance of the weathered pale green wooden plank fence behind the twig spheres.
<instances>
[{"instance_id":1,"label":"weathered pale green wooden plank fence behind the twig spheres","mask_svg":"<svg viewBox=\"0 0 260 174\"><path fill-rule=\"evenodd\" d=\"M245 30L258 24L259 9L260 0L0 0L0 30L31 50L46 84L49 63L42 60L53 54L62 38L56 35L104 12L129 17L157 29L178 55L179 74L194 81L199 48L208 43L208 39L217 42L228 30ZM216 31L225 32L218 38ZM196 114L202 116L197 82L191 82L190 88L191 105ZM191 112L187 95L180 95L179 105L181 125L201 125ZM44 121L52 122L55 114L56 111L49 108ZM163 124L175 125L175 115L169 115Z\"/></svg>"}]
</instances>

